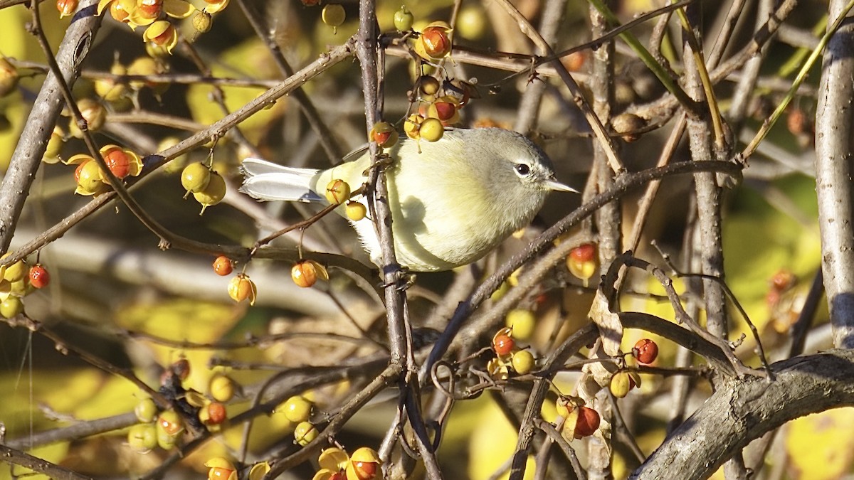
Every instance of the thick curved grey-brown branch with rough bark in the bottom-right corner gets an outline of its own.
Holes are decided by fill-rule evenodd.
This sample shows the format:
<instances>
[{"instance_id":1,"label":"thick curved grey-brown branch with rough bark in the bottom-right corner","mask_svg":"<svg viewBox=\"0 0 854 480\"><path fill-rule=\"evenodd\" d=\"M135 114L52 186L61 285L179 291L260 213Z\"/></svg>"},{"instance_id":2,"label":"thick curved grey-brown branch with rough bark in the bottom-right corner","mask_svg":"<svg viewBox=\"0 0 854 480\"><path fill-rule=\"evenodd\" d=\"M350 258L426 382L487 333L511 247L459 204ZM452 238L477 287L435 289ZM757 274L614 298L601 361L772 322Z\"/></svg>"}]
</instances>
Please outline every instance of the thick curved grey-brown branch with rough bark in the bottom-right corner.
<instances>
[{"instance_id":1,"label":"thick curved grey-brown branch with rough bark in the bottom-right corner","mask_svg":"<svg viewBox=\"0 0 854 480\"><path fill-rule=\"evenodd\" d=\"M771 366L773 383L746 377L722 385L629 478L707 478L789 420L854 405L854 351L829 350Z\"/></svg>"}]
</instances>

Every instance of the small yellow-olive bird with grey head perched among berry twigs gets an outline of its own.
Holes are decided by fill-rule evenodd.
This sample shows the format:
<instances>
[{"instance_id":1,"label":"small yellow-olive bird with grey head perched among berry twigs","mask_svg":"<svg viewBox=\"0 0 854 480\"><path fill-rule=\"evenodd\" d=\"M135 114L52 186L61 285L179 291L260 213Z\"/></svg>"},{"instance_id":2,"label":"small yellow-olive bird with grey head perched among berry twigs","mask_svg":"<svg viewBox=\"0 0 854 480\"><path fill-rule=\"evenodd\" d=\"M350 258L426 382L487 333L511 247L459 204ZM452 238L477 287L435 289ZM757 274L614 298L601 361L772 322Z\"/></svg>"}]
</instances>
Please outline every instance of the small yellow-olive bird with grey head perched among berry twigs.
<instances>
[{"instance_id":1,"label":"small yellow-olive bird with grey head perched among berry twigs","mask_svg":"<svg viewBox=\"0 0 854 480\"><path fill-rule=\"evenodd\" d=\"M403 140L388 150L386 169L395 255L412 272L439 272L480 260L528 225L551 190L573 191L554 178L552 162L517 132L448 130L437 142ZM243 161L241 191L259 200L319 202L332 179L354 190L367 181L367 153L328 170ZM359 199L366 202L365 198ZM344 207L336 212L346 216ZM370 220L351 221L371 261L382 265Z\"/></svg>"}]
</instances>

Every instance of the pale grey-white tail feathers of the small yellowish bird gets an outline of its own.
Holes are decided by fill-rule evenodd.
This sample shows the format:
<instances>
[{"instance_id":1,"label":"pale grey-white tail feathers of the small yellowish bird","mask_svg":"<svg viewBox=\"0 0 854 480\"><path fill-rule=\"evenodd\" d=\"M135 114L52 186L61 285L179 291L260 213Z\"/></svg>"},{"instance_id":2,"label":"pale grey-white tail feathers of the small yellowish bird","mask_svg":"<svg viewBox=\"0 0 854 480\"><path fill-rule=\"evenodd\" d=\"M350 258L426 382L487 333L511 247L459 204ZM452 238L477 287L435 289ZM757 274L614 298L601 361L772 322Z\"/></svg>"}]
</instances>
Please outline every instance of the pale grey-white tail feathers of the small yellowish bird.
<instances>
[{"instance_id":1,"label":"pale grey-white tail feathers of the small yellowish bird","mask_svg":"<svg viewBox=\"0 0 854 480\"><path fill-rule=\"evenodd\" d=\"M248 158L243 161L243 185L240 191L259 200L323 202L312 190L312 179L319 170L284 167L276 163Z\"/></svg>"}]
</instances>

